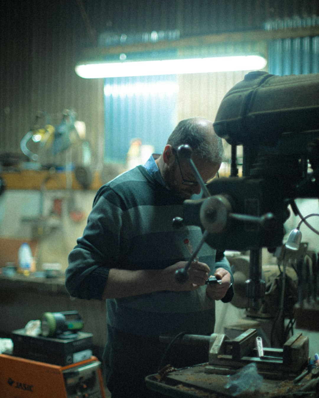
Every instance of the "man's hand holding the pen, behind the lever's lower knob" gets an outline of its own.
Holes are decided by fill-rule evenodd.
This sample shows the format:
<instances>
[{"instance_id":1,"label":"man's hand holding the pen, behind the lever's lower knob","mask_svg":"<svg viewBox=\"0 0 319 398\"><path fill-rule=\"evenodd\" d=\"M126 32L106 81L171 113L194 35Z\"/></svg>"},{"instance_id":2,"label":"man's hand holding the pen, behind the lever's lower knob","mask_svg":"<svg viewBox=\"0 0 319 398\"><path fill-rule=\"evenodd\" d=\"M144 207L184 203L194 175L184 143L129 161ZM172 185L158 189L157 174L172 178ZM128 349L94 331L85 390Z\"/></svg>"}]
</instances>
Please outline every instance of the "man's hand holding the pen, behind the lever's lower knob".
<instances>
[{"instance_id":1,"label":"man's hand holding the pen, behind the lever's lower knob","mask_svg":"<svg viewBox=\"0 0 319 398\"><path fill-rule=\"evenodd\" d=\"M185 291L185 290L196 290L199 286L205 285L210 272L209 266L199 261L191 263L188 269L188 279L185 283L179 283L175 279L175 271L177 269L184 268L187 261L179 261L163 269L161 275L161 283L163 284L163 290L170 291Z\"/></svg>"}]
</instances>

